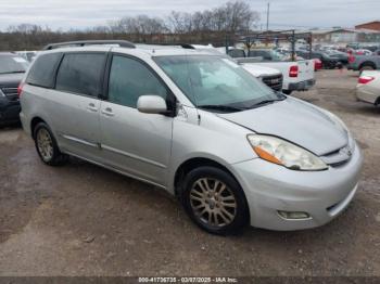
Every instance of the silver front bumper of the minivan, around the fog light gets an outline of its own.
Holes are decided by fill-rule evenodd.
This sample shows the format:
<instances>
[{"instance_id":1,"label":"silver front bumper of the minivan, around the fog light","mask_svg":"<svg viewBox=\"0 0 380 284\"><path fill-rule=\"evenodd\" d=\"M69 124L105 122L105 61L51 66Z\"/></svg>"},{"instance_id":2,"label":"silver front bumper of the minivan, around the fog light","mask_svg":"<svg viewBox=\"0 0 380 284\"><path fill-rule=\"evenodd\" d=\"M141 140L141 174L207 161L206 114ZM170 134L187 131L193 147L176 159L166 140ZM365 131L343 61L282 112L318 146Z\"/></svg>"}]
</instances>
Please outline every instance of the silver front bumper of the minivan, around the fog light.
<instances>
[{"instance_id":1,"label":"silver front bumper of the minivan, around the fog light","mask_svg":"<svg viewBox=\"0 0 380 284\"><path fill-rule=\"evenodd\" d=\"M363 156L324 171L295 171L256 158L233 165L250 207L251 225L291 231L331 221L354 197ZM307 212L309 218L284 219L278 211Z\"/></svg>"}]
</instances>

